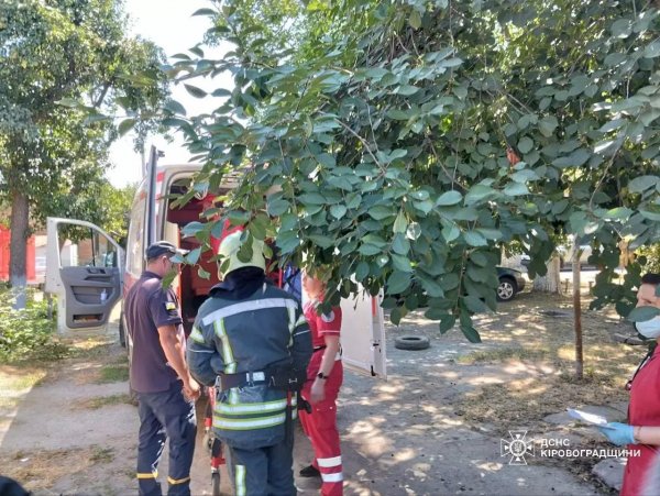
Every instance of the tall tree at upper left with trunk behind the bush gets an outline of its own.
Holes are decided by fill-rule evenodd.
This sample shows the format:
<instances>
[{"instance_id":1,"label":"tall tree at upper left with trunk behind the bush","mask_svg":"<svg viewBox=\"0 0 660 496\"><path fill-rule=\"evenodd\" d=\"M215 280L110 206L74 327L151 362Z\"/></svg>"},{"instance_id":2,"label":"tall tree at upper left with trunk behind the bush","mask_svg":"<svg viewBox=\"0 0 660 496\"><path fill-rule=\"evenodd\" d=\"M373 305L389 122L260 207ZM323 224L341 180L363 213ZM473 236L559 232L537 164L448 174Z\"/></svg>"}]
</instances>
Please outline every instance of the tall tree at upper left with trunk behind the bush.
<instances>
[{"instance_id":1,"label":"tall tree at upper left with trunk behind the bush","mask_svg":"<svg viewBox=\"0 0 660 496\"><path fill-rule=\"evenodd\" d=\"M150 112L167 95L164 57L129 37L127 25L120 0L0 3L0 195L11 205L10 282L19 293L30 218L94 210L86 194L101 187L108 146L135 125L116 126L101 112L140 113L140 136L156 125Z\"/></svg>"}]
</instances>

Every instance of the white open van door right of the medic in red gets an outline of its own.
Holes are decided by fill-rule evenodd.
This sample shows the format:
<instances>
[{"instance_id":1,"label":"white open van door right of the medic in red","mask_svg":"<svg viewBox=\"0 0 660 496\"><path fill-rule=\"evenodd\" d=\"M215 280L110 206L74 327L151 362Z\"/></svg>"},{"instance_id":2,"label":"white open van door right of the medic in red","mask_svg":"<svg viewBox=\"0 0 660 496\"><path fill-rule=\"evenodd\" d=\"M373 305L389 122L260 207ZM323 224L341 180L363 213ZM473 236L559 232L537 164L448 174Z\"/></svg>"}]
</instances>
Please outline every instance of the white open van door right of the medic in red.
<instances>
[{"instance_id":1,"label":"white open van door right of the medic in red","mask_svg":"<svg viewBox=\"0 0 660 496\"><path fill-rule=\"evenodd\" d=\"M341 359L351 370L385 379L383 298L372 297L362 286L360 289L354 299L341 300Z\"/></svg>"}]
</instances>

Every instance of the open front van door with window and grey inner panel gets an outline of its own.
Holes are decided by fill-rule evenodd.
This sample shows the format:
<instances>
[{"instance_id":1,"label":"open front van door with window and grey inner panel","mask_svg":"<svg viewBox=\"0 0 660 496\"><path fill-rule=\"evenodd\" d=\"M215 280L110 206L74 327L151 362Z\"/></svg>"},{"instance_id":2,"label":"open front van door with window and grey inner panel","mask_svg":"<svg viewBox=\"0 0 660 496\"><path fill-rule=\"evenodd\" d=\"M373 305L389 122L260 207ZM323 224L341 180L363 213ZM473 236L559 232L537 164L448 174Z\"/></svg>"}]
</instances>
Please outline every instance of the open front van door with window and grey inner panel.
<instances>
[{"instance_id":1,"label":"open front van door with window and grey inner panel","mask_svg":"<svg viewBox=\"0 0 660 496\"><path fill-rule=\"evenodd\" d=\"M57 329L101 329L121 297L123 250L81 220L47 219L45 291L57 296Z\"/></svg>"}]
</instances>

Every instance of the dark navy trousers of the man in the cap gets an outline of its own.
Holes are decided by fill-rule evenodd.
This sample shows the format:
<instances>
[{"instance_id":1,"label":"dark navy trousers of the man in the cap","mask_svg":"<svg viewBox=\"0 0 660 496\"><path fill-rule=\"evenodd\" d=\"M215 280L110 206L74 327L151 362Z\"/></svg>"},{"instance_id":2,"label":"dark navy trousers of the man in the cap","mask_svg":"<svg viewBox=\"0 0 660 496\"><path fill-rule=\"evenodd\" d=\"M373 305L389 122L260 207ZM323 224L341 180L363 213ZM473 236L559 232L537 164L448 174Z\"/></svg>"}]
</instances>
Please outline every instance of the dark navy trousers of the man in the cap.
<instances>
[{"instance_id":1,"label":"dark navy trousers of the man in the cap","mask_svg":"<svg viewBox=\"0 0 660 496\"><path fill-rule=\"evenodd\" d=\"M190 465L195 452L197 419L195 403L184 398L182 383L168 390L138 393L140 438L138 445L138 482L140 495L160 496L158 462L169 439L168 495L190 494Z\"/></svg>"}]
</instances>

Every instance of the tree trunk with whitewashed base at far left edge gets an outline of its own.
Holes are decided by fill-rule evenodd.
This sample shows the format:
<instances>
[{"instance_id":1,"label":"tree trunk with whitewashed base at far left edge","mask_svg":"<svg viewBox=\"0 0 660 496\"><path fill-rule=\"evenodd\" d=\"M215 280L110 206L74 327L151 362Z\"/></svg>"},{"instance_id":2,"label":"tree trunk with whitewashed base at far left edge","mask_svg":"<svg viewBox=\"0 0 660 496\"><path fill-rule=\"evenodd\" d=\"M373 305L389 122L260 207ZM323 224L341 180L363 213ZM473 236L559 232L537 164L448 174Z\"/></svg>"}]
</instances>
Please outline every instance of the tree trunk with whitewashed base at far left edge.
<instances>
[{"instance_id":1,"label":"tree trunk with whitewashed base at far left edge","mask_svg":"<svg viewBox=\"0 0 660 496\"><path fill-rule=\"evenodd\" d=\"M25 253L29 238L28 197L21 191L13 191L11 202L11 238L9 242L9 283L14 297L15 309L25 308L28 285Z\"/></svg>"}]
</instances>

